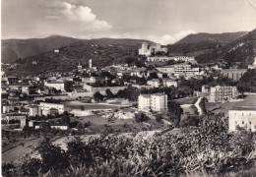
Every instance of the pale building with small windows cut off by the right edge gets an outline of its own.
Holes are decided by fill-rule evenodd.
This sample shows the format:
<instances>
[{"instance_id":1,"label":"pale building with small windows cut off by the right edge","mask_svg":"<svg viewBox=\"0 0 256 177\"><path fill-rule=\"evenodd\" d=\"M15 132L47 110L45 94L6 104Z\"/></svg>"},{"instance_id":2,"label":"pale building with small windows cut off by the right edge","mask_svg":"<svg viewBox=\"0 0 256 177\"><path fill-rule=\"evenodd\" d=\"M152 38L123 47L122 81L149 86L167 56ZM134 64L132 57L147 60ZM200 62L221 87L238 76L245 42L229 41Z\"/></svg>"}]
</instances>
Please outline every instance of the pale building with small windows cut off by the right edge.
<instances>
[{"instance_id":1,"label":"pale building with small windows cut off by the right edge","mask_svg":"<svg viewBox=\"0 0 256 177\"><path fill-rule=\"evenodd\" d=\"M228 131L236 130L236 127L256 131L256 107L237 107L228 110Z\"/></svg>"}]
</instances>

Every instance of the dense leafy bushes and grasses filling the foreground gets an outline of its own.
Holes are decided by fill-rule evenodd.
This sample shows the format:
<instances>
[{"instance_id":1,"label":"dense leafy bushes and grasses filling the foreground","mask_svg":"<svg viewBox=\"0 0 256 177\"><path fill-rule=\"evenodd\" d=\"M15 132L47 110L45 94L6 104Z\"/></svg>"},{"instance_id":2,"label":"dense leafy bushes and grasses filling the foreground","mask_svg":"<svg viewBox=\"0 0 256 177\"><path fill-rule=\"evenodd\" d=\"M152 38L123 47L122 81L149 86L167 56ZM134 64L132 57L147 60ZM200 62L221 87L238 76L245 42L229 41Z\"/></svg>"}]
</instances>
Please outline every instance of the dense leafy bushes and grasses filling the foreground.
<instances>
[{"instance_id":1,"label":"dense leafy bushes and grasses filling the foreground","mask_svg":"<svg viewBox=\"0 0 256 177\"><path fill-rule=\"evenodd\" d=\"M255 134L227 132L223 115L206 115L181 135L152 139L79 137L67 150L49 139L36 149L40 159L3 164L4 176L246 176L255 175Z\"/></svg>"}]
</instances>

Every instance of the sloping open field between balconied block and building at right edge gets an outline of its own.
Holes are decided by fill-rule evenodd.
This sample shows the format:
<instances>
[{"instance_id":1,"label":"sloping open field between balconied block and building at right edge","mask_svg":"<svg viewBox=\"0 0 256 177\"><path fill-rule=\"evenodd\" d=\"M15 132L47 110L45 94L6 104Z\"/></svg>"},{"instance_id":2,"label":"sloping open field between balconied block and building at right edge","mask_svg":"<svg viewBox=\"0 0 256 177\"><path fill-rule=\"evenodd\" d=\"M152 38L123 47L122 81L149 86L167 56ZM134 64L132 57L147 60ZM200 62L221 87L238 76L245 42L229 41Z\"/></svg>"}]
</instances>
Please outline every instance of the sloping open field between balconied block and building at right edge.
<instances>
[{"instance_id":1,"label":"sloping open field between balconied block and building at right edge","mask_svg":"<svg viewBox=\"0 0 256 177\"><path fill-rule=\"evenodd\" d=\"M207 111L213 111L215 113L223 112L225 116L227 116L228 110L233 107L241 107L241 106L256 106L256 95L247 95L243 99L238 99L235 101L229 102L207 102L206 109Z\"/></svg>"}]
</instances>

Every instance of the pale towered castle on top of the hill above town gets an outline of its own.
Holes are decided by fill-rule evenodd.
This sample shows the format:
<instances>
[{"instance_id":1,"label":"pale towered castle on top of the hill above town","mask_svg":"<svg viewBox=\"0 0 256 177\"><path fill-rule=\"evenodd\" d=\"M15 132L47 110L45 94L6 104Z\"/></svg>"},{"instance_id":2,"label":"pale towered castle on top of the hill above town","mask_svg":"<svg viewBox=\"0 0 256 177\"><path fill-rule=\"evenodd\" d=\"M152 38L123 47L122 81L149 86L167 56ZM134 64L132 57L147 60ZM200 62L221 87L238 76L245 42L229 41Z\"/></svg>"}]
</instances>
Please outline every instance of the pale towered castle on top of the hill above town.
<instances>
[{"instance_id":1,"label":"pale towered castle on top of the hill above town","mask_svg":"<svg viewBox=\"0 0 256 177\"><path fill-rule=\"evenodd\" d=\"M161 47L160 43L157 43L156 46L150 46L147 42L142 43L142 48L139 49L139 55L150 56L151 54L156 54L157 52L167 53L167 47Z\"/></svg>"}]
</instances>

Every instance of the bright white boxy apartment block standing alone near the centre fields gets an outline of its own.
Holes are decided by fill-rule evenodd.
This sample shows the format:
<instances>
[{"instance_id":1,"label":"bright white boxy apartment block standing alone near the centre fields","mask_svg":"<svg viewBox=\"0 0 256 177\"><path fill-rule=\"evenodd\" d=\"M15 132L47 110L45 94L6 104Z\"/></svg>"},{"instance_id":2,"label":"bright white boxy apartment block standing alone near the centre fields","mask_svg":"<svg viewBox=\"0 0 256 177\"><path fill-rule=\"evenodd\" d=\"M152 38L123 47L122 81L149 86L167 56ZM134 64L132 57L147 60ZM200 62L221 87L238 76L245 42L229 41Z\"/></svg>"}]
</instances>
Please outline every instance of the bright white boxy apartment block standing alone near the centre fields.
<instances>
[{"instance_id":1,"label":"bright white boxy apartment block standing alone near the centre fields","mask_svg":"<svg viewBox=\"0 0 256 177\"><path fill-rule=\"evenodd\" d=\"M165 111L167 110L167 95L164 93L140 94L139 110Z\"/></svg>"}]
</instances>

